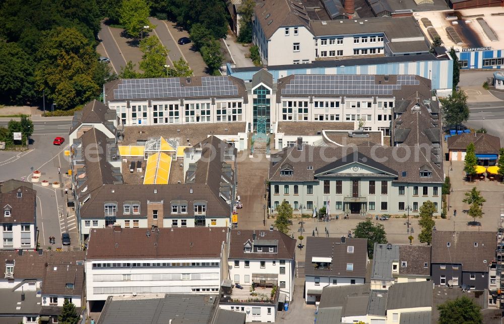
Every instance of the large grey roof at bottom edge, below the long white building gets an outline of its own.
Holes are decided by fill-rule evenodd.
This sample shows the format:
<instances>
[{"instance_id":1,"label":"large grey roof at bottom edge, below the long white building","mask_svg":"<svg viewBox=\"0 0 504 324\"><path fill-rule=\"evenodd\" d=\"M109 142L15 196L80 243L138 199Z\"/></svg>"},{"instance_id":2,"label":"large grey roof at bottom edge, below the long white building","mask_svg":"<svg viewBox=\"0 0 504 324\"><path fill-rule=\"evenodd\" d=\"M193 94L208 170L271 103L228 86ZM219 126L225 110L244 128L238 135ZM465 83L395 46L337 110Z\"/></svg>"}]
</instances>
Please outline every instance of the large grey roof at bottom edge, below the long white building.
<instances>
[{"instance_id":1,"label":"large grey roof at bottom edge, below the long white building","mask_svg":"<svg viewBox=\"0 0 504 324\"><path fill-rule=\"evenodd\" d=\"M210 299L212 298L212 299ZM152 294L137 297L110 296L99 323L211 323L218 295Z\"/></svg>"}]
</instances>

